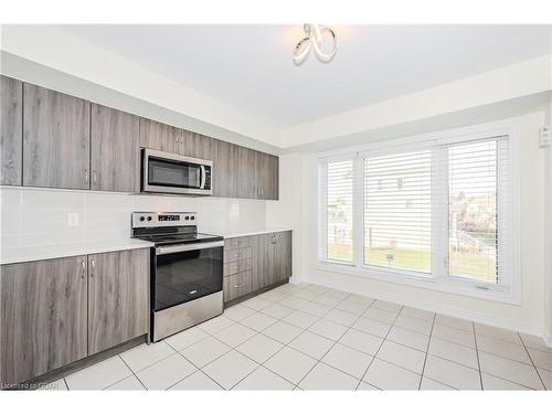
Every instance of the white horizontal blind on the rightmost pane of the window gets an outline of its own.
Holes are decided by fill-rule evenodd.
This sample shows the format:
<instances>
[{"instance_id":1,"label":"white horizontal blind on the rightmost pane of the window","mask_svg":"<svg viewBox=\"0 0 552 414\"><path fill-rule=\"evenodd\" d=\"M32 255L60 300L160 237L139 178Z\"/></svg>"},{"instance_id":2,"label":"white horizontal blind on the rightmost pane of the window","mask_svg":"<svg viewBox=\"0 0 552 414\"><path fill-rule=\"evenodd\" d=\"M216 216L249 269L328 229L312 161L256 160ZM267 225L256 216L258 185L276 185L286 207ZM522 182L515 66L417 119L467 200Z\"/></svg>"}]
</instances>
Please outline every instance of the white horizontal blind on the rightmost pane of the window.
<instances>
[{"instance_id":1,"label":"white horizontal blind on the rightmost pane of the window","mask_svg":"<svg viewBox=\"0 0 552 414\"><path fill-rule=\"evenodd\" d=\"M506 236L508 140L448 146L448 273L499 283L499 241Z\"/></svg>"}]
</instances>

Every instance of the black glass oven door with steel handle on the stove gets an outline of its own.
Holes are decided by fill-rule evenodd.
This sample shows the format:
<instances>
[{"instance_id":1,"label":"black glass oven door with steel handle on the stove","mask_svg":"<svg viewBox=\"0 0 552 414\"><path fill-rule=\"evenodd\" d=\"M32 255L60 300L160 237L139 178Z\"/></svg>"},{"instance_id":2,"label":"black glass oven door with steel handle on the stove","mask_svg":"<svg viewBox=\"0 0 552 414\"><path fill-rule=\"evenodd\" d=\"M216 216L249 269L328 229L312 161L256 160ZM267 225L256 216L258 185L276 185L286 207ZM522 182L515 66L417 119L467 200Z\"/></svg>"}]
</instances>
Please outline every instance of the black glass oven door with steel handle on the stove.
<instances>
[{"instance_id":1,"label":"black glass oven door with steel handle on the stove","mask_svg":"<svg viewBox=\"0 0 552 414\"><path fill-rule=\"evenodd\" d=\"M170 307L222 290L224 242L206 242L156 250L152 309Z\"/></svg>"}]
</instances>

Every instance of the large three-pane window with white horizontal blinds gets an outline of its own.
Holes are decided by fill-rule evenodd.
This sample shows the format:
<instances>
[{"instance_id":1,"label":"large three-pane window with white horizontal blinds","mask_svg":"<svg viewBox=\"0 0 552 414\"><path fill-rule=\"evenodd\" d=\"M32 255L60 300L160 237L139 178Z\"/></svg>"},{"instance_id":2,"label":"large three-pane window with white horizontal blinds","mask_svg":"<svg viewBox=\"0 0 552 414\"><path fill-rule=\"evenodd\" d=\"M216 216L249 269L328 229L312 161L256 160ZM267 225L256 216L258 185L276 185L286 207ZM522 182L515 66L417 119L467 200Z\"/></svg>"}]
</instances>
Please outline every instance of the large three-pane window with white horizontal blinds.
<instances>
[{"instance_id":1,"label":"large three-pane window with white horizontal blinds","mask_svg":"<svg viewBox=\"0 0 552 414\"><path fill-rule=\"evenodd\" d=\"M505 135L321 159L319 259L347 273L506 297L510 174Z\"/></svg>"}]
</instances>

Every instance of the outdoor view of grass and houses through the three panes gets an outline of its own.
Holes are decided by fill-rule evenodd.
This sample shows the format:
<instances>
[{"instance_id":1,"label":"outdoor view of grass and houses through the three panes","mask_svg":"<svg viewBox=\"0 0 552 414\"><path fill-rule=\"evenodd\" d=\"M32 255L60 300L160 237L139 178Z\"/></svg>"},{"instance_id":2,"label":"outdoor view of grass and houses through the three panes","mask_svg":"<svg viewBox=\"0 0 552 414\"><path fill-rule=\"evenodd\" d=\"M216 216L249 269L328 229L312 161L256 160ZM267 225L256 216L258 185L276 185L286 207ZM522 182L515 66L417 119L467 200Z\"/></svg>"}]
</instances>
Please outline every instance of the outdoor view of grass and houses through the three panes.
<instances>
[{"instance_id":1,"label":"outdoor view of grass and houses through the three panes","mask_svg":"<svg viewBox=\"0 0 552 414\"><path fill-rule=\"evenodd\" d=\"M432 234L448 232L448 275L497 283L498 142L450 145L438 152L443 158L437 161L432 149L365 157L359 160L363 190L358 204L353 202L355 161L329 162L327 258L352 263L353 232L359 231L363 232L362 264L431 274ZM434 162L446 162L444 177L432 176ZM442 214L448 225L438 229L432 227L432 179L444 180L442 187L448 189L436 206L448 205ZM353 204L363 206L363 229L353 229Z\"/></svg>"}]
</instances>

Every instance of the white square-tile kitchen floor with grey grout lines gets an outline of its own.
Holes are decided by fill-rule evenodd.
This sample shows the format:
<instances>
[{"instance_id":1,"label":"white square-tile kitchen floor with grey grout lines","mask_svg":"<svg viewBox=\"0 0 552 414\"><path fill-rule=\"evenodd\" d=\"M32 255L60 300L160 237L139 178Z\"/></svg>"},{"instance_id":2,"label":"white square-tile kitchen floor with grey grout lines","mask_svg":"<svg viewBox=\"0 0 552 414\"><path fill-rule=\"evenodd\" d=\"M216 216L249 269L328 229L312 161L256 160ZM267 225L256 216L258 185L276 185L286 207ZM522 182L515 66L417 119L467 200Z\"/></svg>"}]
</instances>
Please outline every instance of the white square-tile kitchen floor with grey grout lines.
<instances>
[{"instance_id":1,"label":"white square-tile kitchen floor with grey grout lines","mask_svg":"<svg viewBox=\"0 0 552 414\"><path fill-rule=\"evenodd\" d=\"M49 390L552 390L535 337L285 285Z\"/></svg>"}]
</instances>

